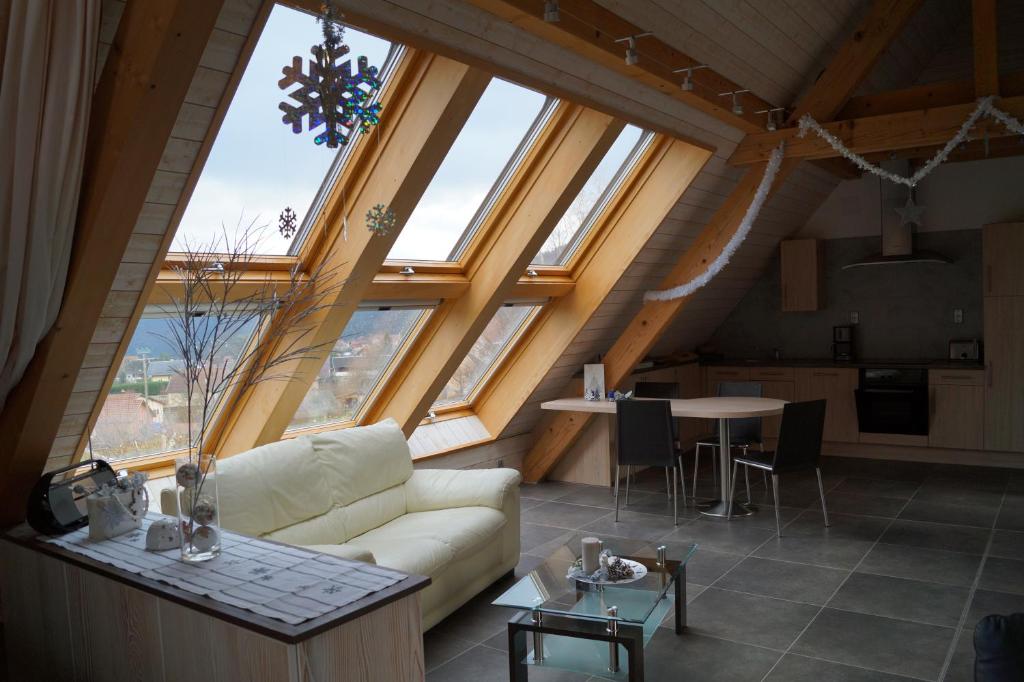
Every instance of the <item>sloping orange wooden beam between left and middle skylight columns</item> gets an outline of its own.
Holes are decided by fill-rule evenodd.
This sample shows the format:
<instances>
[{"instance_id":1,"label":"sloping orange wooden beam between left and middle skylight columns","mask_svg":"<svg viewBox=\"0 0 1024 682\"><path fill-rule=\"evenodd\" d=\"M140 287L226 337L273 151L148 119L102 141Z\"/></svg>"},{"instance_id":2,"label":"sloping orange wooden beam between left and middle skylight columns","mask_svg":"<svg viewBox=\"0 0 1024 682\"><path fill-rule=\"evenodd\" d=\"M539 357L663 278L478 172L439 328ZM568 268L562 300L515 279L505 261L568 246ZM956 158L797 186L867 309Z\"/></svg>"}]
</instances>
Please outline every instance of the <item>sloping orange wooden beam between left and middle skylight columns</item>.
<instances>
[{"instance_id":1,"label":"sloping orange wooden beam between left and middle skylight columns","mask_svg":"<svg viewBox=\"0 0 1024 682\"><path fill-rule=\"evenodd\" d=\"M455 142L490 77L445 57L412 52L402 59L384 93L373 144L360 145L331 190L314 229L329 233L316 261L326 263L341 289L312 315L313 333L302 345L318 345L302 360L280 368L289 381L258 383L239 396L212 434L218 455L232 455L281 438L291 423L375 275L400 233L353 229L345 241L343 219L360 216L376 204L394 209L399 220L412 214L430 179ZM291 341L286 337L283 343Z\"/></svg>"}]
</instances>

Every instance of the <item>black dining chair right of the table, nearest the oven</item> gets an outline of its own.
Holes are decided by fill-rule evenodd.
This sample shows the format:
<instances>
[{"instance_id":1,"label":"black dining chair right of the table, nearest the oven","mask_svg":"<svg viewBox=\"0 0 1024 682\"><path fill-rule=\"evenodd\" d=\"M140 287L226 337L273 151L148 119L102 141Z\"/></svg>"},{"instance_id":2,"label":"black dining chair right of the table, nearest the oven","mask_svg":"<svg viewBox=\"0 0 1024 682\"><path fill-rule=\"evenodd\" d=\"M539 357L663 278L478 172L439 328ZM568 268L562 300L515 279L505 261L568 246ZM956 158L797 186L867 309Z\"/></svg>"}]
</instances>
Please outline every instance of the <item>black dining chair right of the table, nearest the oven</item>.
<instances>
[{"instance_id":1,"label":"black dining chair right of the table, nearest the oven","mask_svg":"<svg viewBox=\"0 0 1024 682\"><path fill-rule=\"evenodd\" d=\"M782 537L782 522L778 512L778 478L790 473L814 469L818 476L818 494L821 496L821 514L828 526L828 509L825 507L825 488L821 484L821 434L825 428L826 400L787 402L782 409L782 424L778 431L778 445L774 453L745 453L733 457L732 486L736 489L736 469L755 467L771 474L772 497L775 501L775 529Z\"/></svg>"}]
</instances>

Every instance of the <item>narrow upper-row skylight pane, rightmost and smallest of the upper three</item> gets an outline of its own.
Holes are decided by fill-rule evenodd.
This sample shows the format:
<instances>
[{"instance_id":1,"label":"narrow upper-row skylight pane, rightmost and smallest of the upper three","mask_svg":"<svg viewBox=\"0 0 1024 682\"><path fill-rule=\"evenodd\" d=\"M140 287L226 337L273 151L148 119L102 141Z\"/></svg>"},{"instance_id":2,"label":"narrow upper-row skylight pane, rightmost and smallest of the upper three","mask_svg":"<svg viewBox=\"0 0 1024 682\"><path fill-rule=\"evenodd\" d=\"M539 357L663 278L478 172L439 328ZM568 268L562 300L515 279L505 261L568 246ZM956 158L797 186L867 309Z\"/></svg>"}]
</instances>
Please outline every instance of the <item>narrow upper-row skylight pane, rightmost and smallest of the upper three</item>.
<instances>
[{"instance_id":1,"label":"narrow upper-row skylight pane, rightmost and smallest of the upper three","mask_svg":"<svg viewBox=\"0 0 1024 682\"><path fill-rule=\"evenodd\" d=\"M653 135L627 125L575 196L534 258L535 265L564 265L622 186Z\"/></svg>"}]
</instances>

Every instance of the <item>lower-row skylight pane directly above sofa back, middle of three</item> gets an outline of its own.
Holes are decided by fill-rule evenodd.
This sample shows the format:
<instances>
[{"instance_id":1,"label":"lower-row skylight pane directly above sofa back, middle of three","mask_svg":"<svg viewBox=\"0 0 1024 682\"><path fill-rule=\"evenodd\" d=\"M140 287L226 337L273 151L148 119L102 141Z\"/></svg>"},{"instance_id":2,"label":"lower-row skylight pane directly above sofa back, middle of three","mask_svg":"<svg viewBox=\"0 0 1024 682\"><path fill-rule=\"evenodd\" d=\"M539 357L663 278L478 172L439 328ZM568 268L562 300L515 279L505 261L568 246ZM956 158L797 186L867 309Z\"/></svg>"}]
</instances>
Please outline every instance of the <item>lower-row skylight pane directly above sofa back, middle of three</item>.
<instances>
[{"instance_id":1,"label":"lower-row skylight pane directly above sofa back, middle of three","mask_svg":"<svg viewBox=\"0 0 1024 682\"><path fill-rule=\"evenodd\" d=\"M353 421L430 310L424 305L356 310L288 429Z\"/></svg>"}]
</instances>

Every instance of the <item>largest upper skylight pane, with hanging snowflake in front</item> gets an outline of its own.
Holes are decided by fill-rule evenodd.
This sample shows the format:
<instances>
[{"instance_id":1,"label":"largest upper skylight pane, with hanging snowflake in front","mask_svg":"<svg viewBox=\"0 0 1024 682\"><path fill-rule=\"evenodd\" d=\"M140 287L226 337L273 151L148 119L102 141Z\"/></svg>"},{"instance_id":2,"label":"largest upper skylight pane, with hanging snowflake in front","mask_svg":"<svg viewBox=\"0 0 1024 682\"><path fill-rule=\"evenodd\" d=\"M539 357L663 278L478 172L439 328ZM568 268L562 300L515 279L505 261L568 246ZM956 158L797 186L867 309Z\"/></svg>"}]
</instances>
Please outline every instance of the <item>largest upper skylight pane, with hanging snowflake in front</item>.
<instances>
[{"instance_id":1,"label":"largest upper skylight pane, with hanging snowflake in front","mask_svg":"<svg viewBox=\"0 0 1024 682\"><path fill-rule=\"evenodd\" d=\"M203 167L196 189L178 225L171 251L182 251L184 244L208 244L220 232L221 225L233 229L240 222L266 225L257 251L285 255L294 252L304 230L286 238L278 230L278 218L286 207L302 225L325 178L331 177L351 148L361 139L329 150L316 145L313 135L296 135L282 122L278 103L287 94L278 87L282 67L293 56L304 59L308 69L309 48L324 40L312 14L274 5L260 34L238 90L231 99L210 156ZM393 72L400 46L386 40L345 29L348 56L354 60L366 55L371 65L381 68L384 81ZM225 76L226 78L226 76ZM384 114L386 115L386 113ZM383 115L382 115L383 116ZM334 172L333 172L334 171Z\"/></svg>"}]
</instances>

